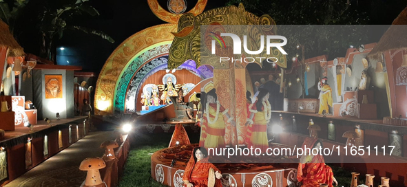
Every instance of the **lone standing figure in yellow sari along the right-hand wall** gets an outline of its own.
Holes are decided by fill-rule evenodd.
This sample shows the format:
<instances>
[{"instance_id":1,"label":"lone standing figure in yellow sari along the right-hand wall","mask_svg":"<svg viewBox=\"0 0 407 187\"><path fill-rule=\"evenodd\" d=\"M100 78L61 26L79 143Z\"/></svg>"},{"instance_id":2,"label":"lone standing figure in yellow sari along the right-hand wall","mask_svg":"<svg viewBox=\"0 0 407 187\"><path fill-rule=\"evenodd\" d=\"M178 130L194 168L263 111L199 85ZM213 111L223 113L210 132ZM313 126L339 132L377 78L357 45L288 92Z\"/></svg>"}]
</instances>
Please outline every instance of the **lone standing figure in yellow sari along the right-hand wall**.
<instances>
[{"instance_id":1,"label":"lone standing figure in yellow sari along the right-hand wall","mask_svg":"<svg viewBox=\"0 0 407 187\"><path fill-rule=\"evenodd\" d=\"M332 89L328 85L328 78L322 78L322 80L318 83L318 89L320 90L320 111L318 111L318 114L329 113L329 108L332 107L333 101Z\"/></svg>"}]
</instances>

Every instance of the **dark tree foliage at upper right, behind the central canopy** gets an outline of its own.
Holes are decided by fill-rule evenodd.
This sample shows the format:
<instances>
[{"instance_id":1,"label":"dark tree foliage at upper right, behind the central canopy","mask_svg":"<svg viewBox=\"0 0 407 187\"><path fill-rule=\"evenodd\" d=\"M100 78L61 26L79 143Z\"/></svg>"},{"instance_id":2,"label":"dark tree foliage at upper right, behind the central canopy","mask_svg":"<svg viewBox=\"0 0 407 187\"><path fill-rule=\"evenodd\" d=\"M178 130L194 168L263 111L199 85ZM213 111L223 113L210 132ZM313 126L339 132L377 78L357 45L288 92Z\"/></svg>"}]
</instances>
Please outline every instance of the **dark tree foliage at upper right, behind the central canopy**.
<instances>
[{"instance_id":1,"label":"dark tree foliage at upper right, behind the central canopy","mask_svg":"<svg viewBox=\"0 0 407 187\"><path fill-rule=\"evenodd\" d=\"M227 5L238 3L253 14L269 14L274 19L277 34L288 39L284 50L289 59L298 54L298 44L304 46L305 58L323 54L336 58L344 56L351 45L357 47L376 40L369 34L371 27L366 27L366 8L355 0L231 0Z\"/></svg>"}]
</instances>

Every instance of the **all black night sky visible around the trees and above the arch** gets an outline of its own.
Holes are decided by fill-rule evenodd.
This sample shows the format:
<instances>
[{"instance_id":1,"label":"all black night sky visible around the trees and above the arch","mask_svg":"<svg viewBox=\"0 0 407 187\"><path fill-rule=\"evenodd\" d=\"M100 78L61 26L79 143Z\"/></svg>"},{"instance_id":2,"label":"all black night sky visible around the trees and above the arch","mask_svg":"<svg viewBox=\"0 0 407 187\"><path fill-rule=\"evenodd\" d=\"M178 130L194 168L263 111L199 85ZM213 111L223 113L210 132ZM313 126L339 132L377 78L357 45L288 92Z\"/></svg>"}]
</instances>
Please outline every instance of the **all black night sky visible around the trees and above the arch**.
<instances>
[{"instance_id":1,"label":"all black night sky visible around the trees and above the arch","mask_svg":"<svg viewBox=\"0 0 407 187\"><path fill-rule=\"evenodd\" d=\"M187 11L196 4L196 1L187 1ZM351 3L355 3L355 1L357 0L351 0ZM367 12L371 17L370 24L390 25L407 4L407 1L399 0L396 0L397 3L389 0L376 1L384 5L376 6L380 7L381 10L368 8L369 11ZM163 8L167 8L167 0L158 0L158 2ZM227 0L209 0L205 10L225 6L226 2ZM83 72L98 74L109 55L125 39L140 30L165 23L158 19L149 9L147 0L91 0L90 3L101 15L99 17L84 16L79 21L76 21L74 25L101 30L112 36L115 42L109 43L92 34L65 30L63 38L56 41L56 61L58 65L80 65L83 67ZM363 6L363 3L368 3L368 1L358 1L358 3ZM29 18L35 16L37 15L34 13L27 13L28 23L26 23L26 27L35 27L35 25L32 25L34 22L31 25L29 22ZM38 45L32 45L33 43L39 43L38 34L35 34L30 32L22 34L23 37L21 37L19 43L24 47L25 52L39 55ZM59 50L60 47L63 47L64 50Z\"/></svg>"}]
</instances>

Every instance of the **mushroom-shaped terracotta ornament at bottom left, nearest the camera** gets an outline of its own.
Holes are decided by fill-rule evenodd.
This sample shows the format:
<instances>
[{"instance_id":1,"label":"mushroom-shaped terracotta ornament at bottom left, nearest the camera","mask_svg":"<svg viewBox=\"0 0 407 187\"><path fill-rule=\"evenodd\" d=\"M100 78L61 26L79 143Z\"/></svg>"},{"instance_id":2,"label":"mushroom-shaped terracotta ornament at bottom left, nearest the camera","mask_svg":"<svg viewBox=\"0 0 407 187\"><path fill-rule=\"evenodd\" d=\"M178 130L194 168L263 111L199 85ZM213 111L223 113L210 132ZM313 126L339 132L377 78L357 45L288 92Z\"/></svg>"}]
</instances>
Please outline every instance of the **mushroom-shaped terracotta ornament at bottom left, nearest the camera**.
<instances>
[{"instance_id":1,"label":"mushroom-shaped terracotta ornament at bottom left, nearest the camera","mask_svg":"<svg viewBox=\"0 0 407 187\"><path fill-rule=\"evenodd\" d=\"M106 164L100 157L87 157L81 162L80 170L87 170L85 186L100 186L103 184L99 169L105 168Z\"/></svg>"}]
</instances>

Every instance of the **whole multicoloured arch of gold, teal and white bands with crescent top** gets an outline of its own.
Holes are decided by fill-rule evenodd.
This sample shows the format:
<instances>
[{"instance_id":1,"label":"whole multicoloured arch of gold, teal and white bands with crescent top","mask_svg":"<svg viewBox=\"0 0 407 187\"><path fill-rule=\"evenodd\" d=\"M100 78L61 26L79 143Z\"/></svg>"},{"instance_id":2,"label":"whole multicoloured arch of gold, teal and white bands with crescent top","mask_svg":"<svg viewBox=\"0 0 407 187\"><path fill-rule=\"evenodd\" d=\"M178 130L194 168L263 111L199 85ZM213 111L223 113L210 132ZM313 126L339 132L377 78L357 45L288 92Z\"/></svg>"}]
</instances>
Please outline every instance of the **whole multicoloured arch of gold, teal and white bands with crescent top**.
<instances>
[{"instance_id":1,"label":"whole multicoloured arch of gold, teal and white bands with crescent top","mask_svg":"<svg viewBox=\"0 0 407 187\"><path fill-rule=\"evenodd\" d=\"M167 12L158 1L149 0L148 3L154 14L167 24L137 32L123 41L107 58L96 83L94 109L97 115L135 112L136 103L140 103L138 98L143 93L140 91L143 89L141 85L154 73L167 69L166 56L174 39L171 32L176 32L176 23L185 10L180 10L176 2L170 3L174 4L171 10L178 13ZM199 0L187 13L200 14L206 3L207 0ZM196 69L196 66L192 67L189 62L178 67L178 70L187 69L192 76L205 77L205 73ZM163 83L157 82L156 85Z\"/></svg>"}]
</instances>

